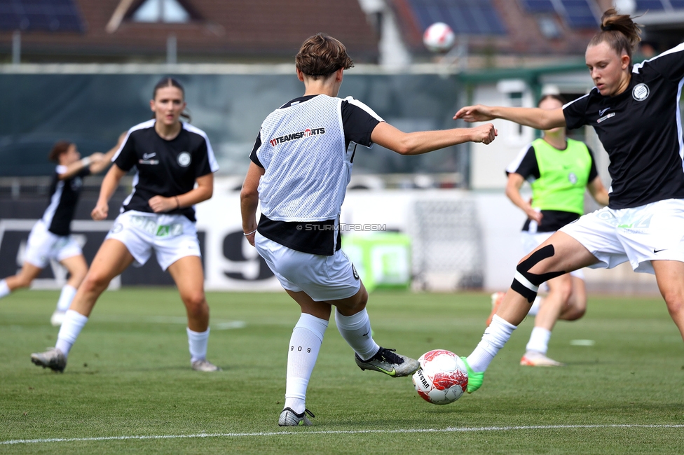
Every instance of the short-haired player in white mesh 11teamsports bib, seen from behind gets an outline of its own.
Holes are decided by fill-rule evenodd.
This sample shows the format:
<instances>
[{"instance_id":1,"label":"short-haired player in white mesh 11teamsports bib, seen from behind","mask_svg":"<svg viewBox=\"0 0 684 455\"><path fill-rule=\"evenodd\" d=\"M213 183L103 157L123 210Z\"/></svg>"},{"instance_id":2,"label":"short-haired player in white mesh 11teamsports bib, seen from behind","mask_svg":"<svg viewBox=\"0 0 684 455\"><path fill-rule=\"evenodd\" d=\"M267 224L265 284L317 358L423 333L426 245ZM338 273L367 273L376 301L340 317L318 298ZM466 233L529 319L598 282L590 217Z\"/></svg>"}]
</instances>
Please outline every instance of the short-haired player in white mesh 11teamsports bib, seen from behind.
<instances>
[{"instance_id":1,"label":"short-haired player in white mesh 11teamsports bib, seen from behind","mask_svg":"<svg viewBox=\"0 0 684 455\"><path fill-rule=\"evenodd\" d=\"M357 144L375 142L418 155L465 141L489 144L496 135L491 124L405 134L365 104L337 98L343 71L351 66L335 38L317 34L304 41L296 73L305 92L264 120L242 186L245 236L301 307L289 343L280 426L310 425L306 388L332 306L337 328L362 370L401 377L419 367L416 360L376 344L365 309L368 294L340 249L339 215Z\"/></svg>"}]
</instances>

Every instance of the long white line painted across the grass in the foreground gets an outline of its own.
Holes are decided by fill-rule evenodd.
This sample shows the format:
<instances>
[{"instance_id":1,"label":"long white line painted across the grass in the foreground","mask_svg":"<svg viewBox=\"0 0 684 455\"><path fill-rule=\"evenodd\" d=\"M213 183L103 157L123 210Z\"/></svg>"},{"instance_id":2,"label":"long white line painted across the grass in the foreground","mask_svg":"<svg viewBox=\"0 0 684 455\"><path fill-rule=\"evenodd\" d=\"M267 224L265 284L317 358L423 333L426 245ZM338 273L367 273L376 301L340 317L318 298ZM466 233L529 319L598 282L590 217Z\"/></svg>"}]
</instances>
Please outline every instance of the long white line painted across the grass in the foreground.
<instances>
[{"instance_id":1,"label":"long white line painted across the grass in the foreground","mask_svg":"<svg viewBox=\"0 0 684 455\"><path fill-rule=\"evenodd\" d=\"M0 441L0 445L41 444L46 442L86 442L121 440L190 439L199 437L248 437L279 435L361 435L373 433L472 433L475 431L512 431L512 430L573 430L583 428L684 428L684 425L530 425L530 426L480 426L447 428L409 428L407 430L330 430L330 431L269 431L260 433L198 433L195 435L149 435L149 436L103 436L103 437L52 437L49 439L15 439Z\"/></svg>"}]
</instances>

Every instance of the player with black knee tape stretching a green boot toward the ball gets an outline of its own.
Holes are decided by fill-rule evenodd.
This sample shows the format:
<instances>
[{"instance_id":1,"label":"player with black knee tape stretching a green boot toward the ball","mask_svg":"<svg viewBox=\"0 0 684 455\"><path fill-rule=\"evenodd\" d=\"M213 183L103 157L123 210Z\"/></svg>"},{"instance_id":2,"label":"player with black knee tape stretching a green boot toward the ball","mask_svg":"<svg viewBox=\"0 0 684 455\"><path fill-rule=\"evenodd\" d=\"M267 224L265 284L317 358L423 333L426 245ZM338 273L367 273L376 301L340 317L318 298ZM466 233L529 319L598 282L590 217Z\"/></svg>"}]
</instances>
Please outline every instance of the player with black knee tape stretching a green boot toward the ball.
<instances>
[{"instance_id":1,"label":"player with black knee tape stretching a green boot toward the ball","mask_svg":"<svg viewBox=\"0 0 684 455\"><path fill-rule=\"evenodd\" d=\"M640 39L629 15L611 8L585 54L594 87L562 109L467 106L454 118L512 120L540 130L591 125L608 151L613 178L608 207L582 216L552 235L517 266L513 283L477 348L468 356L468 391L526 316L538 286L582 267L655 273L684 338L684 144L679 97L684 44L640 64L631 52Z\"/></svg>"}]
</instances>

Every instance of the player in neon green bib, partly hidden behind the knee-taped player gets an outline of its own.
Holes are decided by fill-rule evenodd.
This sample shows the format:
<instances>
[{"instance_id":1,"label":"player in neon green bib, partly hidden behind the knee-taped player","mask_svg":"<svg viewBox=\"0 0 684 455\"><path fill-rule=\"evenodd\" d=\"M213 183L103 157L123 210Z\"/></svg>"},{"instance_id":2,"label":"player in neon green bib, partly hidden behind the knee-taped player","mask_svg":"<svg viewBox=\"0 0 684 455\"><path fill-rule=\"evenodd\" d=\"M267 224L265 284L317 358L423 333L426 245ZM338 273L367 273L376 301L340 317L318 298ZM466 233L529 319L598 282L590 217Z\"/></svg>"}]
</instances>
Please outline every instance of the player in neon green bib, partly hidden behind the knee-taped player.
<instances>
[{"instance_id":1,"label":"player in neon green bib, partly hidden behind the knee-taped player","mask_svg":"<svg viewBox=\"0 0 684 455\"><path fill-rule=\"evenodd\" d=\"M553 110L561 109L563 104L559 95L547 94L540 99L538 107ZM589 190L596 202L608 205L608 191L596 172L594 155L582 142L568 139L563 127L546 130L540 139L535 139L523 148L506 173L506 195L528 216L522 232L526 252L532 251L556 230L584 214L584 188ZM526 180L531 181L531 201L520 195L520 188ZM587 308L582 270L550 279L547 285L549 293L543 298L544 304L535 317L535 326L525 355L520 360L521 365L563 365L546 356L551 330L558 319L575 321L584 316ZM496 294L487 325L503 300L504 293ZM540 303L540 300L542 297L537 297L535 304Z\"/></svg>"}]
</instances>

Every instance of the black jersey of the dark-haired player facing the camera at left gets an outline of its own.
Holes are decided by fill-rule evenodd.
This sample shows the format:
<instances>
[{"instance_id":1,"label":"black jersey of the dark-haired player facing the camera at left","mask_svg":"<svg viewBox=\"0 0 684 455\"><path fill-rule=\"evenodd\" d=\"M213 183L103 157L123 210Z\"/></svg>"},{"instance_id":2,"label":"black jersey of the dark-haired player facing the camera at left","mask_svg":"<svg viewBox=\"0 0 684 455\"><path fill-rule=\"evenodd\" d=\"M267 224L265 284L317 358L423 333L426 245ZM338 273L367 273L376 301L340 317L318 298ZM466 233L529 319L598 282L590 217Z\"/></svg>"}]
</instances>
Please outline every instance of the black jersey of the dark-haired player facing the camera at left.
<instances>
[{"instance_id":1,"label":"black jersey of the dark-haired player facing the camera at left","mask_svg":"<svg viewBox=\"0 0 684 455\"><path fill-rule=\"evenodd\" d=\"M112 162L124 171L136 167L132 192L123 201L121 212L135 210L153 213L148 201L160 195L173 197L188 193L198 177L219 169L207 134L182 123L178 136L162 139L154 130L156 120L132 127ZM183 207L167 212L195 220L195 209Z\"/></svg>"}]
</instances>

